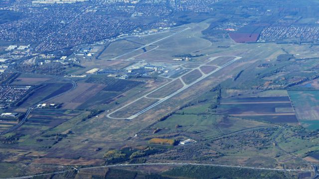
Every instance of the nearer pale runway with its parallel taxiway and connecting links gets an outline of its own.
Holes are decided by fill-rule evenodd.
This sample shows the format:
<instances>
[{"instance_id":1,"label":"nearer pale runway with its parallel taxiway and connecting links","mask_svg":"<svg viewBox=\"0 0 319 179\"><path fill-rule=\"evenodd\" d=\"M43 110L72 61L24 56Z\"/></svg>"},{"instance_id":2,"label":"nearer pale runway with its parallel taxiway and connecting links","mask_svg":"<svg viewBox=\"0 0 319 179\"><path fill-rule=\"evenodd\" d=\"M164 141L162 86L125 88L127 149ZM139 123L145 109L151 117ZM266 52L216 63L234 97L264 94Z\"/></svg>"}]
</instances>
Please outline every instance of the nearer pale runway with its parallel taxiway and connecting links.
<instances>
[{"instance_id":1,"label":"nearer pale runway with its parallel taxiway and connecting links","mask_svg":"<svg viewBox=\"0 0 319 179\"><path fill-rule=\"evenodd\" d=\"M228 62L228 63L226 63L226 64L224 64L224 65L218 67L216 70L214 70L214 71L212 71L212 72L210 72L210 73L208 73L208 74L204 74L204 73L200 70L200 67L202 67L202 66L207 66L208 63L210 63L211 61L213 61L213 60L215 60L215 59L217 59L217 58L219 58L219 57L235 57L235 58L234 58L232 61L230 61L230 62ZM155 92L155 91L157 91L157 90L159 90L159 89L164 88L165 86L169 85L170 83L173 83L174 81L171 81L170 83L167 83L167 84L161 86L161 87L158 88L158 89L154 89L153 91L151 91L151 92L149 92L149 93L143 95L142 97L139 97L139 98L137 98L136 100L134 100L134 101L132 101L132 102L130 102L130 103L128 103L128 104L126 104L126 105L124 105L124 106L122 106L122 107L116 109L116 110L114 110L113 112L107 114L107 117L112 118L112 119L134 119L134 118L136 118L137 116L143 114L144 112L146 112L146 111L152 109L153 107L159 105L160 103L164 102L165 100L171 98L172 96L174 96L174 95L176 95L176 94L182 92L182 91L185 90L185 89L188 89L189 87L195 85L196 83L200 82L201 80L203 80L203 79L207 78L208 76L210 76L210 75L212 75L212 74L214 74L214 73L220 71L221 69L223 69L223 68L229 66L230 64L234 63L235 61L237 61L237 60L239 60L239 59L241 59L241 58L242 58L242 57L237 57L237 56L217 56L217 57L213 57L213 58L211 58L211 60L210 60L209 62L207 62L207 63L205 63L205 64L202 64L202 65L199 65L198 67L194 68L192 71L189 71L189 72L187 72L187 73L185 73L185 74L183 75L183 76L185 76L185 75L187 75L187 74L193 72L194 70L199 70L199 71L201 72L202 76L201 76L200 78L198 78L196 81L192 82L191 84L188 84L188 85L187 85L187 84L183 83L183 80L182 80L182 77L183 77L183 76L181 76L181 77L179 77L179 78L177 78L177 79L174 80L174 81L180 80L180 81L183 83L183 87L182 87L181 89L178 89L177 91L173 92L172 94L170 94L170 95L168 95L168 96L166 96L166 97L164 97L164 98L155 98L155 99L159 99L159 101L157 101L156 103L154 103L154 104L152 104L152 105L146 107L145 109L141 110L140 112L138 112L138 113L136 113L136 114L134 114L134 115L132 115L132 116L130 116L130 117L127 117L127 118L116 118L116 117L112 117L112 116L111 116L111 115L114 114L115 112L117 112L117 111L119 111L119 110L121 110L121 109L123 109L123 108L129 106L130 104L132 104L132 103L134 103L134 102L136 102L136 101L138 101L138 100L140 100L140 99L142 99L142 98L150 98L150 97L147 97L149 94L151 94L151 93L153 93L153 92Z\"/></svg>"}]
</instances>

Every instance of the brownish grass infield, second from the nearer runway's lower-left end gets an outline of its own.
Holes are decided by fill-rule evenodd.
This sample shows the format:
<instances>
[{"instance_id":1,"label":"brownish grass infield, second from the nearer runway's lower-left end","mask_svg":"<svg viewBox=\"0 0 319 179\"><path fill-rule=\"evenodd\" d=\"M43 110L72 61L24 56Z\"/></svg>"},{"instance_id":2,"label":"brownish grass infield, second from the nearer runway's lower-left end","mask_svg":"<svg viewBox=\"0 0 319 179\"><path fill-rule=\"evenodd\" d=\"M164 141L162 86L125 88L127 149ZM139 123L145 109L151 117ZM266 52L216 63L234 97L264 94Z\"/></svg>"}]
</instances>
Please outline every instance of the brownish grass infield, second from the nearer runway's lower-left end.
<instances>
[{"instance_id":1,"label":"brownish grass infield, second from the nearer runway's lower-left end","mask_svg":"<svg viewBox=\"0 0 319 179\"><path fill-rule=\"evenodd\" d=\"M168 84L167 86L151 93L150 95L148 95L148 97L162 98L177 91L178 89L181 89L182 87L183 87L183 84L181 83L179 79L177 79L171 82L170 84Z\"/></svg>"}]
</instances>

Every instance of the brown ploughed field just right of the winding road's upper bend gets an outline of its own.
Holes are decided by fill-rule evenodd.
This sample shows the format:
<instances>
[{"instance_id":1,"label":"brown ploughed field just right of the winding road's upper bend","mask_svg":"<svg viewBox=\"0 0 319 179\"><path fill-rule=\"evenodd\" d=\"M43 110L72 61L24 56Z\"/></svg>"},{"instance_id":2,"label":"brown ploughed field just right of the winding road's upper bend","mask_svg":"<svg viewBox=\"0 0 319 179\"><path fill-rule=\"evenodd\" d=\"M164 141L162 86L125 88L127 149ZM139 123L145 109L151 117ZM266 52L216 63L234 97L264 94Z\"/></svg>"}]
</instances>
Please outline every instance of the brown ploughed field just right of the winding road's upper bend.
<instances>
[{"instance_id":1,"label":"brown ploughed field just right of the winding road's upper bend","mask_svg":"<svg viewBox=\"0 0 319 179\"><path fill-rule=\"evenodd\" d=\"M105 87L106 85L101 84L79 83L76 89L50 100L49 103L62 102L62 108L75 109Z\"/></svg>"}]
</instances>

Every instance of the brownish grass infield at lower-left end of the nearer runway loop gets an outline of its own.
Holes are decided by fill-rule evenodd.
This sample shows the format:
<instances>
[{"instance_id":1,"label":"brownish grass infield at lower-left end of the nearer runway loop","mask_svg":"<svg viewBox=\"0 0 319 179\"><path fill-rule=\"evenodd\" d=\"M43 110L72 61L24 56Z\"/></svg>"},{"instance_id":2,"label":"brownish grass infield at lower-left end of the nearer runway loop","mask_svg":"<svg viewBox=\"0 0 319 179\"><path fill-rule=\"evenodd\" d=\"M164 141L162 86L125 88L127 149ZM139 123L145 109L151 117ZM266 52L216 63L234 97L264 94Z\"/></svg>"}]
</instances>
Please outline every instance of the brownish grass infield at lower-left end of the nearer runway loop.
<instances>
[{"instance_id":1,"label":"brownish grass infield at lower-left end of the nearer runway loop","mask_svg":"<svg viewBox=\"0 0 319 179\"><path fill-rule=\"evenodd\" d=\"M154 104L157 102L158 99L150 99L150 98L142 98L139 99L138 101L124 107L123 109L115 112L114 114L111 115L111 117L117 117L117 118L127 118L130 117L131 115L134 115L144 108Z\"/></svg>"}]
</instances>

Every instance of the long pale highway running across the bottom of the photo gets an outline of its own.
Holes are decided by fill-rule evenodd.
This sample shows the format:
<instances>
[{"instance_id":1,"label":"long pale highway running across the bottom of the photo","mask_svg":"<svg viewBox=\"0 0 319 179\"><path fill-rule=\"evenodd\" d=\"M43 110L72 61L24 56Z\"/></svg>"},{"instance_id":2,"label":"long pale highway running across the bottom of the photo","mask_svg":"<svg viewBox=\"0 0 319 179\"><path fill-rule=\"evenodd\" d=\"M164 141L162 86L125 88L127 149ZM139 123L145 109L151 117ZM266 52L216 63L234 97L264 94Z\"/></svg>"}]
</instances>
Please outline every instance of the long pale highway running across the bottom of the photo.
<instances>
[{"instance_id":1,"label":"long pale highway running across the bottom of the photo","mask_svg":"<svg viewBox=\"0 0 319 179\"><path fill-rule=\"evenodd\" d=\"M97 169L97 168L105 168L105 167L134 167L134 166L210 166L210 167L228 167L228 168L238 168L238 169L253 169L253 170L267 170L267 171L281 171L281 172L313 172L313 170L303 170L303 169L273 169L273 168L258 168L258 167L245 167L245 166L231 166L231 165L219 165L219 164L194 164L194 163L145 163L145 164L116 164L116 165L108 165L108 166L98 166L98 167L89 167L82 169L75 169L77 171L80 170L88 170L88 169ZM33 176L22 176L22 177L12 177L12 178L3 178L3 179L30 179L36 176L46 176L52 174L63 174L65 172L69 172L72 170L53 172L47 174L38 174Z\"/></svg>"}]
</instances>

